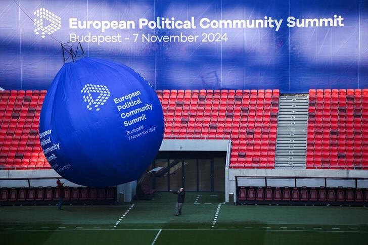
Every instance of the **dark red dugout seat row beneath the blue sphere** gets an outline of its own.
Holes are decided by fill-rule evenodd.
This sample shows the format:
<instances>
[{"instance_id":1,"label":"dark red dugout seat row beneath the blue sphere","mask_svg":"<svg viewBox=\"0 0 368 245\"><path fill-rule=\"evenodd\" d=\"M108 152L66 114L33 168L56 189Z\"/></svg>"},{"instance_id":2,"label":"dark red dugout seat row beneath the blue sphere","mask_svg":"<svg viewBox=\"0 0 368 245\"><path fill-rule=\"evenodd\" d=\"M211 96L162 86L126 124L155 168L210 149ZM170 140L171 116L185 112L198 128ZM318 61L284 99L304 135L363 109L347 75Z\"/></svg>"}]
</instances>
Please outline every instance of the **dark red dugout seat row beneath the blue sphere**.
<instances>
[{"instance_id":1,"label":"dark red dugout seat row beneath the blue sphere","mask_svg":"<svg viewBox=\"0 0 368 245\"><path fill-rule=\"evenodd\" d=\"M87 187L64 187L63 201L115 201L115 188L87 188ZM52 202L59 201L59 195L56 188L53 187L3 187L0 192L0 203L23 204L34 202Z\"/></svg>"}]
</instances>

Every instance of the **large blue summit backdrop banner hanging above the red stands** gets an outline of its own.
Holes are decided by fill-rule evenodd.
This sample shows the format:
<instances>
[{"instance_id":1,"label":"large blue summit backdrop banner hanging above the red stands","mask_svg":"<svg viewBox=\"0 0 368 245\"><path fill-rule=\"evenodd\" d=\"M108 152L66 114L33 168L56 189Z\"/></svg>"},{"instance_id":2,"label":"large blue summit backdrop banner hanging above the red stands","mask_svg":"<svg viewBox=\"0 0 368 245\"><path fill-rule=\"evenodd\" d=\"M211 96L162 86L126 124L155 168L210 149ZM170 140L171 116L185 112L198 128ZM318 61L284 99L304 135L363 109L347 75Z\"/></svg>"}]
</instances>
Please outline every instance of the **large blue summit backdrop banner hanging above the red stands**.
<instances>
[{"instance_id":1,"label":"large blue summit backdrop banner hanging above the red stands","mask_svg":"<svg viewBox=\"0 0 368 245\"><path fill-rule=\"evenodd\" d=\"M46 89L61 43L155 89L368 87L368 1L2 1L0 87Z\"/></svg>"}]
</instances>

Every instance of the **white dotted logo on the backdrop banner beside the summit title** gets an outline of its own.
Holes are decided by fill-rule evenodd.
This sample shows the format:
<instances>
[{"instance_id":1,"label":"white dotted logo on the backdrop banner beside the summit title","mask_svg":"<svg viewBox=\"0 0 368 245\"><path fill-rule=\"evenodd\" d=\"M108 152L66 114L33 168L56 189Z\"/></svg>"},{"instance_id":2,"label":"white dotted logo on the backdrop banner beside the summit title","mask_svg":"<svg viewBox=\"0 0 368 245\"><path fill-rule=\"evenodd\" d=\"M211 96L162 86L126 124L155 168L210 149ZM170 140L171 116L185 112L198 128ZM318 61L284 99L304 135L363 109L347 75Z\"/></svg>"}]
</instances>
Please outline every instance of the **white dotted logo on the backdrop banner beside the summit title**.
<instances>
[{"instance_id":1,"label":"white dotted logo on the backdrop banner beside the summit title","mask_svg":"<svg viewBox=\"0 0 368 245\"><path fill-rule=\"evenodd\" d=\"M47 9L38 9L33 14L36 17L34 18L34 25L37 26L34 33L41 34L42 38L45 37L45 34L52 34L61 28L60 17Z\"/></svg>"}]
</instances>

